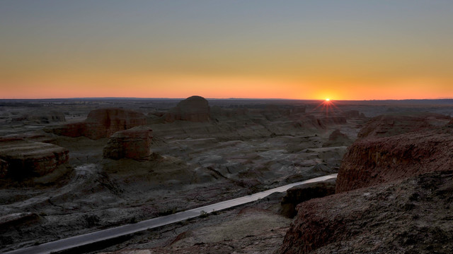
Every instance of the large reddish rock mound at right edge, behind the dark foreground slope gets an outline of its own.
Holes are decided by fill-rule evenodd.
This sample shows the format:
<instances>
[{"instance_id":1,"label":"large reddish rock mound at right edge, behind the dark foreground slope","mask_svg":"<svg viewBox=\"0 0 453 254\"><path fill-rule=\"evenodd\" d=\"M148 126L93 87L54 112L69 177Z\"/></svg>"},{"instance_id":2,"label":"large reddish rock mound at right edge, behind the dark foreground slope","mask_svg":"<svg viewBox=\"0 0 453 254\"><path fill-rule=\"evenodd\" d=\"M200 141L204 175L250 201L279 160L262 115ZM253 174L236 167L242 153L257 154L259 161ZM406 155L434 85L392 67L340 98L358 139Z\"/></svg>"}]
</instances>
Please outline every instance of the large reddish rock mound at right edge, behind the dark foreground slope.
<instances>
[{"instance_id":1,"label":"large reddish rock mound at right edge, behind the dark foreground slope","mask_svg":"<svg viewBox=\"0 0 453 254\"><path fill-rule=\"evenodd\" d=\"M450 128L357 140L338 171L337 193L453 167Z\"/></svg>"}]
</instances>

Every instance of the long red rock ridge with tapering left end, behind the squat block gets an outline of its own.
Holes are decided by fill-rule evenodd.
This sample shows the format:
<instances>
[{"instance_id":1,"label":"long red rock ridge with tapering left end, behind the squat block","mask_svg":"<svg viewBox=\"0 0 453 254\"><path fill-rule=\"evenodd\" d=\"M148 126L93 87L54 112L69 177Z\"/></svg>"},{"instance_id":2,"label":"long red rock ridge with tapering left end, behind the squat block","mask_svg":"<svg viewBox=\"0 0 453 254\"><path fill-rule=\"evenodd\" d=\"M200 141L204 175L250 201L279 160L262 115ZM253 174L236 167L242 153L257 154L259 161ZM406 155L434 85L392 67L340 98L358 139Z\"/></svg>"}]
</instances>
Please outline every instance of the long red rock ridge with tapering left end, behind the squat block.
<instances>
[{"instance_id":1,"label":"long red rock ridge with tapering left end, behind the squat block","mask_svg":"<svg viewBox=\"0 0 453 254\"><path fill-rule=\"evenodd\" d=\"M144 114L128 109L95 109L81 123L47 129L57 135L71 138L85 136L93 140L108 138L117 131L147 124Z\"/></svg>"}]
</instances>

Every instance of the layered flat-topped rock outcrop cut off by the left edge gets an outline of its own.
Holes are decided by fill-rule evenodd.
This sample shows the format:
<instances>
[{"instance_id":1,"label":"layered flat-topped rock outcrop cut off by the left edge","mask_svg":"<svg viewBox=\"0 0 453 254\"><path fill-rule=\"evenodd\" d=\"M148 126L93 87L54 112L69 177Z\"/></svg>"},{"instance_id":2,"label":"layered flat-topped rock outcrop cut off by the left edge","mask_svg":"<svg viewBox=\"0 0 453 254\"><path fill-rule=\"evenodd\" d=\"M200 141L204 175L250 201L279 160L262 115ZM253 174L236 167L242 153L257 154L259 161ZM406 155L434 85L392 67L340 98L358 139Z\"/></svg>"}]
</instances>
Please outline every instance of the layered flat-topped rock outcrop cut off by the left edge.
<instances>
[{"instance_id":1,"label":"layered flat-topped rock outcrop cut off by the left edge","mask_svg":"<svg viewBox=\"0 0 453 254\"><path fill-rule=\"evenodd\" d=\"M44 176L68 162L69 151L57 145L15 138L0 140L0 175L23 179Z\"/></svg>"}]
</instances>

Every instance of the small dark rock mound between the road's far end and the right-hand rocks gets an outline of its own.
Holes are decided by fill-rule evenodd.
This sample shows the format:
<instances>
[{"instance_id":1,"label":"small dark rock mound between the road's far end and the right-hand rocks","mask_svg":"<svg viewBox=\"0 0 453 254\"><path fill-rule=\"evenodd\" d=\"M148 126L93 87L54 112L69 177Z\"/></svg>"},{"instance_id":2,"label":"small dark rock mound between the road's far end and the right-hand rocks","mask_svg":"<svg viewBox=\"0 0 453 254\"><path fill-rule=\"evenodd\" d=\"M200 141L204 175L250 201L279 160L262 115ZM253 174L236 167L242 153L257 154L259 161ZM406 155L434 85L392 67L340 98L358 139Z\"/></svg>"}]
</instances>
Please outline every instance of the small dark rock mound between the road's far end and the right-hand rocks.
<instances>
[{"instance_id":1,"label":"small dark rock mound between the road's far end and the right-hand rocks","mask_svg":"<svg viewBox=\"0 0 453 254\"><path fill-rule=\"evenodd\" d=\"M328 179L326 181L306 183L289 188L280 203L282 205L280 214L292 218L297 214L296 206L301 202L335 194L335 181L336 179Z\"/></svg>"}]
</instances>

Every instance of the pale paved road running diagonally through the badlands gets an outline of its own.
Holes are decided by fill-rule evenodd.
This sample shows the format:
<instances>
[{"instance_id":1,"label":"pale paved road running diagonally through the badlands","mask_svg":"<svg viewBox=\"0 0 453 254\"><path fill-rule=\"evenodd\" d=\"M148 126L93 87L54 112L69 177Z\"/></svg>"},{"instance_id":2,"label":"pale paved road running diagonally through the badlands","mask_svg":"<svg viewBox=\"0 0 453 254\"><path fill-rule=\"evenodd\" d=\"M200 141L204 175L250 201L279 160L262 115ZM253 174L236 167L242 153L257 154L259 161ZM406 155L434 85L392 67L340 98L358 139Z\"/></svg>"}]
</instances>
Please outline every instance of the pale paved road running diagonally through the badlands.
<instances>
[{"instance_id":1,"label":"pale paved road running diagonally through the badlands","mask_svg":"<svg viewBox=\"0 0 453 254\"><path fill-rule=\"evenodd\" d=\"M164 226L168 224L172 224L175 222L181 222L185 219L190 219L194 217L200 216L202 211L210 213L212 211L219 211L224 210L230 207L235 207L238 205L243 205L248 202L256 201L260 198L265 198L266 196L275 193L275 192L284 192L287 189L301 185L304 183L314 183L317 181L324 181L327 179L336 178L337 174L331 174L328 176L321 176L316 177L314 179L309 179L306 181L298 182L298 183L291 183L286 186L280 186L278 188L273 188L268 191L263 191L260 193L255 193L252 195L246 195L245 197L235 198L232 200L226 200L223 202L218 202L212 205L206 205L204 207L198 207L192 210L187 210L184 212L178 212L176 214L170 214L163 217L157 217L154 219L148 219L142 222L138 222L135 224L127 224L124 226L117 226L111 229L105 229L101 231L96 231L88 234L83 234L80 236L72 236L69 238L64 238L57 241L52 241L49 243L42 243L39 246L31 246L28 248L21 248L18 250L12 250L4 254L28 254L28 253L51 253L57 252L61 250L68 250L70 248L76 248L80 246L86 246L91 243L97 243L99 241L105 241L112 238L117 238L119 236L126 236L128 234L133 234L139 231L144 231L147 229L154 229L158 226Z\"/></svg>"}]
</instances>

